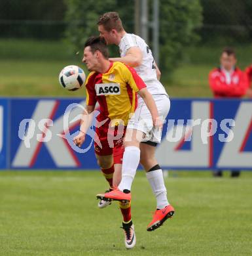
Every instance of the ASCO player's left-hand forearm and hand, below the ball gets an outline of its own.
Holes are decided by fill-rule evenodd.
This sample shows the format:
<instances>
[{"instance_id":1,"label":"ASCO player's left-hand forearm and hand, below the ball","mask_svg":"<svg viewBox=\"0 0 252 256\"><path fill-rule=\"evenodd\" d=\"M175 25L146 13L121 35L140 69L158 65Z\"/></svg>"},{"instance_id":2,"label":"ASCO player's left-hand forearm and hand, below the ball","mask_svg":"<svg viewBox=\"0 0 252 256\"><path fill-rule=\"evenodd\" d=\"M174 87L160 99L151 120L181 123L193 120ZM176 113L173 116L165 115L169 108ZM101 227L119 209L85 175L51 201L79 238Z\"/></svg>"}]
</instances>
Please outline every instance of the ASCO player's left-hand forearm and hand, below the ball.
<instances>
[{"instance_id":1,"label":"ASCO player's left-hand forearm and hand, below the ball","mask_svg":"<svg viewBox=\"0 0 252 256\"><path fill-rule=\"evenodd\" d=\"M79 135L73 138L73 142L76 146L81 147L86 139L86 131L88 131L88 128L90 127L93 119L92 112L94 112L95 106L86 106L86 109L82 113L81 117L81 128Z\"/></svg>"}]
</instances>

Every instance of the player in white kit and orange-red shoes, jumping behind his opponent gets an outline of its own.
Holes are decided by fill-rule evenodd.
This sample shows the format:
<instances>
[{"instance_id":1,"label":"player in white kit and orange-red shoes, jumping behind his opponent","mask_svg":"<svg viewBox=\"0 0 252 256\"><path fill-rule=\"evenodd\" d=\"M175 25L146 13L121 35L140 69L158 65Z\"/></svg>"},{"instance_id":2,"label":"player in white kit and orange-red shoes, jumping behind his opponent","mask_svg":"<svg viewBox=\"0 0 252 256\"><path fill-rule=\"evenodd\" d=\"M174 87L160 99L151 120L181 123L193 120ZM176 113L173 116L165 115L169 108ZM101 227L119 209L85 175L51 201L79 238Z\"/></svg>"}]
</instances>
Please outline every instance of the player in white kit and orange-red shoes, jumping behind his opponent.
<instances>
[{"instance_id":1,"label":"player in white kit and orange-red shoes, jumping behind his opponent","mask_svg":"<svg viewBox=\"0 0 252 256\"><path fill-rule=\"evenodd\" d=\"M110 60L120 61L135 68L137 74L147 85L149 93L153 95L159 116L165 119L170 110L170 99L159 81L160 71L147 43L138 35L125 32L117 12L103 14L98 21L98 30L108 45L115 44L120 48L120 58L110 58ZM140 138L145 137L144 141L140 142L137 139L139 132ZM147 106L141 98L138 98L135 115L132 116L127 126L121 182L116 190L98 194L98 198L103 200L131 200L130 190L140 161L145 168L157 204L147 231L155 230L174 214L174 209L167 199L162 169L154 156L156 145L160 143L160 140L161 131L155 129Z\"/></svg>"}]
</instances>

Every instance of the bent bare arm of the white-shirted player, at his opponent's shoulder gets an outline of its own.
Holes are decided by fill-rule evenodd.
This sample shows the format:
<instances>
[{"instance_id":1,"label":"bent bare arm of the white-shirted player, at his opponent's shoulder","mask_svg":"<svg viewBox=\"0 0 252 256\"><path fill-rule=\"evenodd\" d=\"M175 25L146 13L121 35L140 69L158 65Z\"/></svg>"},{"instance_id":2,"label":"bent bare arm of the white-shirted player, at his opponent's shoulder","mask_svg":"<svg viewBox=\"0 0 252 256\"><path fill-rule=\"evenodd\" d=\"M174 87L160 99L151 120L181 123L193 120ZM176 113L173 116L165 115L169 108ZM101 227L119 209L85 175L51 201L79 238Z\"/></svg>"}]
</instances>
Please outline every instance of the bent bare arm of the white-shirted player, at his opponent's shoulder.
<instances>
[{"instance_id":1,"label":"bent bare arm of the white-shirted player, at his opponent's shoulder","mask_svg":"<svg viewBox=\"0 0 252 256\"><path fill-rule=\"evenodd\" d=\"M131 66L132 68L135 68L141 65L143 60L143 54L138 47L131 47L126 52L126 56L121 58L109 58L109 60L113 62L120 61L124 64L127 64L128 66Z\"/></svg>"}]
</instances>

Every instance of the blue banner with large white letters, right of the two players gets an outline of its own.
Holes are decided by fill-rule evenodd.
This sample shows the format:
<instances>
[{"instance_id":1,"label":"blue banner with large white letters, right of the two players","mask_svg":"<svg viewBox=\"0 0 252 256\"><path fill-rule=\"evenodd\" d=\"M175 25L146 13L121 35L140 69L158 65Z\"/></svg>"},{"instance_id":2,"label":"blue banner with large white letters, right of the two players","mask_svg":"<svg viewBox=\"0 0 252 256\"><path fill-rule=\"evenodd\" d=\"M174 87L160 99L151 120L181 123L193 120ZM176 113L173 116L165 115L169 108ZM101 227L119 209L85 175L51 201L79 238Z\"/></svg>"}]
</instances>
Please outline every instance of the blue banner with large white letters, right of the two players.
<instances>
[{"instance_id":1,"label":"blue banner with large white letters, right of the two players","mask_svg":"<svg viewBox=\"0 0 252 256\"><path fill-rule=\"evenodd\" d=\"M252 169L251 100L171 100L156 156L173 169Z\"/></svg>"}]
</instances>

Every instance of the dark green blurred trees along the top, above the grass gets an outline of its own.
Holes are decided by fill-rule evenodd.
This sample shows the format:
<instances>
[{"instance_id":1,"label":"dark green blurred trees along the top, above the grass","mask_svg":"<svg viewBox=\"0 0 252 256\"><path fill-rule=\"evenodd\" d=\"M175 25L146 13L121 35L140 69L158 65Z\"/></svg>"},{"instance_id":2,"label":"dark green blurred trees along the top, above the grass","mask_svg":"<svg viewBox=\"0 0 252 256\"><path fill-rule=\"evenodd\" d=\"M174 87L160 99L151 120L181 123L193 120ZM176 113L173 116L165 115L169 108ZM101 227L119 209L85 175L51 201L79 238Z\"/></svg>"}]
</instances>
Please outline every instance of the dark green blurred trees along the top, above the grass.
<instances>
[{"instance_id":1,"label":"dark green blurred trees along the top, above the grass","mask_svg":"<svg viewBox=\"0 0 252 256\"><path fill-rule=\"evenodd\" d=\"M134 32L134 0L2 0L0 37L63 39L76 52L98 35L96 22L107 11L119 12L126 31ZM251 0L160 0L160 67L173 70L190 45L249 43L251 13Z\"/></svg>"}]
</instances>

